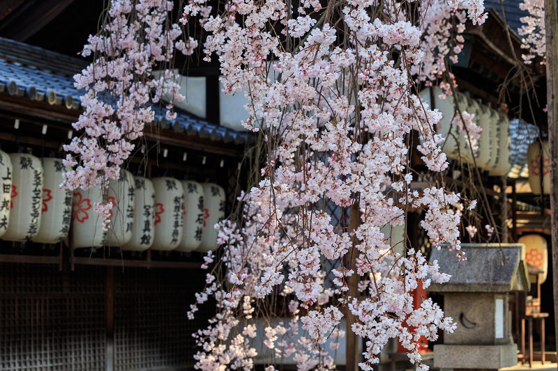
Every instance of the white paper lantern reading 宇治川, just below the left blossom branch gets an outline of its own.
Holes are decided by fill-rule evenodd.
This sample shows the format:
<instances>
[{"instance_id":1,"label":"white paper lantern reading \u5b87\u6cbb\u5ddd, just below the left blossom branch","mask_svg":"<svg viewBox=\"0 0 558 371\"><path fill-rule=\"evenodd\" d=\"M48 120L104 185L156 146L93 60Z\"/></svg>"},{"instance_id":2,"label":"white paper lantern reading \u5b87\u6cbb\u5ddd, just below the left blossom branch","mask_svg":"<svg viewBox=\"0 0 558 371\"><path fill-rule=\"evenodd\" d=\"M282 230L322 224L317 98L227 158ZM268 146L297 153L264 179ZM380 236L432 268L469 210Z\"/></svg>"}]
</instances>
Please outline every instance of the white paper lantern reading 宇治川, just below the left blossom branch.
<instances>
[{"instance_id":1,"label":"white paper lantern reading \u5b87\u6cbb\u5ddd, just below the left blossom branch","mask_svg":"<svg viewBox=\"0 0 558 371\"><path fill-rule=\"evenodd\" d=\"M121 171L120 179L109 182L108 200L112 202L110 229L106 246L122 246L132 239L134 227L134 177Z\"/></svg>"}]
</instances>

